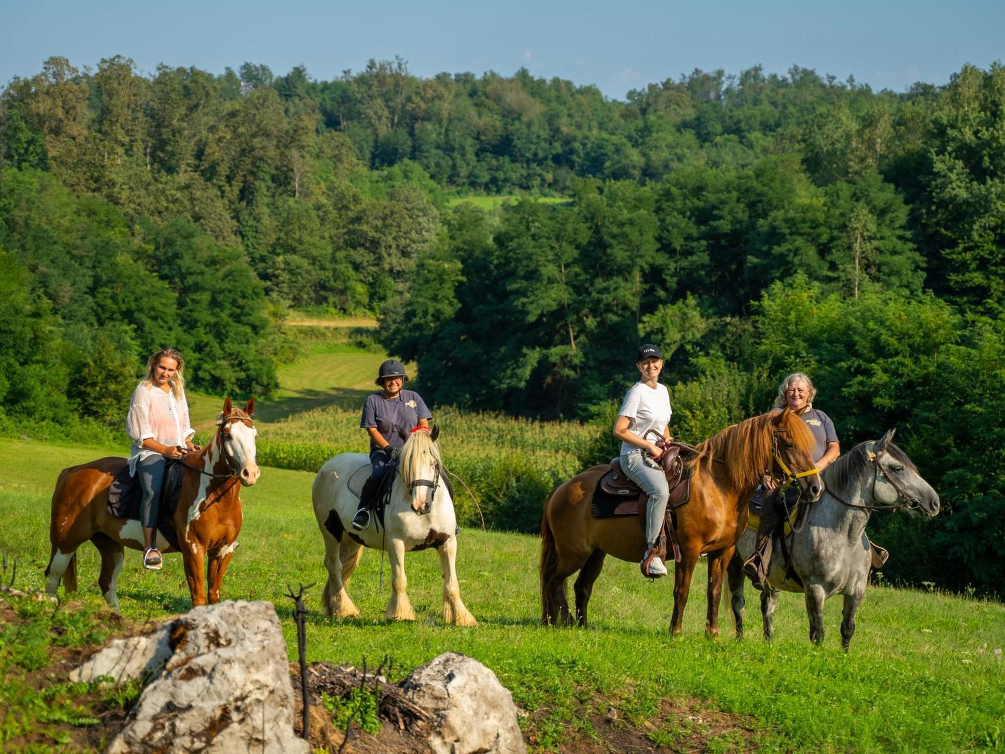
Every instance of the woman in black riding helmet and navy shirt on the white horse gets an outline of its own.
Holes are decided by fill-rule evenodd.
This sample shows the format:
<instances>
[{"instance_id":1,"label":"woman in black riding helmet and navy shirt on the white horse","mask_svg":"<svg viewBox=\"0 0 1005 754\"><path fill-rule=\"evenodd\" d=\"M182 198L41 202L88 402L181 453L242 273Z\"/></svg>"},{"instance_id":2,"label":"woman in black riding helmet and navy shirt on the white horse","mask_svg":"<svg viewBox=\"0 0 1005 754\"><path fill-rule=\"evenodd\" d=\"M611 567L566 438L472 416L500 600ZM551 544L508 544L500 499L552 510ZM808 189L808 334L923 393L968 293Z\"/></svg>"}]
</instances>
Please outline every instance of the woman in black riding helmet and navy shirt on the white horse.
<instances>
[{"instance_id":1,"label":"woman in black riding helmet and navy shirt on the white horse","mask_svg":"<svg viewBox=\"0 0 1005 754\"><path fill-rule=\"evenodd\" d=\"M367 396L360 426L370 435L370 462L373 472L360 494L360 508L353 517L353 529L363 531L370 524L370 504L387 472L387 464L417 426L429 426L432 414L414 390L404 390L408 381L405 365L388 359L377 373L379 393Z\"/></svg>"}]
</instances>

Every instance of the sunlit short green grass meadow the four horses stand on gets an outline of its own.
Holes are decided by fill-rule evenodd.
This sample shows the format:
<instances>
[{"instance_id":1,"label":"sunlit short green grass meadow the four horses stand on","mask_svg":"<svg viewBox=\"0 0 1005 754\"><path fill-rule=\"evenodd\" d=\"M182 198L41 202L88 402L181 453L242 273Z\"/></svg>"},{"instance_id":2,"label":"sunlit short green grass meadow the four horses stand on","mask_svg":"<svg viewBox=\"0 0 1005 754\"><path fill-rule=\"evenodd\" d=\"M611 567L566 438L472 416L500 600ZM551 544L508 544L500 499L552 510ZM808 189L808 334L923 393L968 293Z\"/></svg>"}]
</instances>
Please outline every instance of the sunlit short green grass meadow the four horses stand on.
<instances>
[{"instance_id":1,"label":"sunlit short green grass meadow the four horses stand on","mask_svg":"<svg viewBox=\"0 0 1005 754\"><path fill-rule=\"evenodd\" d=\"M49 498L60 468L110 454L107 449L0 440L0 547L17 557L18 586L41 587L48 558ZM650 739L672 747L699 722L659 714L664 698L697 698L710 707L750 716L756 743L769 750L959 751L1005 745L1005 606L941 594L872 588L859 612L851 651L839 648L840 601L826 609L823 646L807 641L802 599L783 595L777 638L759 637L757 594L748 589L748 638L735 642L724 604L724 637L702 635L703 569L695 581L684 635L670 639L670 581L648 583L637 566L608 560L591 602L588 629L538 625L535 537L465 530L459 537L461 593L480 624L454 628L440 620L435 553L409 555L414 623L383 620L389 573L379 587L380 556L368 552L350 592L363 611L335 622L320 610L323 546L311 509L313 475L265 468L242 491L244 528L223 595L276 604L294 656L295 627L287 585L309 592L309 658L374 666L394 659L398 680L446 650L476 657L535 713L527 732L540 748L595 735L589 715L611 706L619 717L651 725ZM896 557L896 553L892 554ZM79 557L81 590L96 593L97 552ZM128 552L120 579L124 613L158 619L189 607L181 560L160 573L144 571ZM540 711L540 712L538 712ZM729 750L738 736L709 741ZM749 742L748 742L749 743Z\"/></svg>"}]
</instances>

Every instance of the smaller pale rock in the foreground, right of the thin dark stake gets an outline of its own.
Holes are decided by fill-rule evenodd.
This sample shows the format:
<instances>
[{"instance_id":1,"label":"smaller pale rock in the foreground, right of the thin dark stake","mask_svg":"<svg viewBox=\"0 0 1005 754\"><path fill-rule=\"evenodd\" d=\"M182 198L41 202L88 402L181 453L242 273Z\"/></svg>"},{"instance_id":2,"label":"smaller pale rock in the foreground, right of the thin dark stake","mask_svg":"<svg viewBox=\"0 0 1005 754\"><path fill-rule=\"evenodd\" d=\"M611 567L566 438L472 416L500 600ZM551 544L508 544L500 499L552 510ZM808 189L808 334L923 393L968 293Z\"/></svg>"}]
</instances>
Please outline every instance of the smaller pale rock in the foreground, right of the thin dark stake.
<instances>
[{"instance_id":1,"label":"smaller pale rock in the foreground, right of the thin dark stake","mask_svg":"<svg viewBox=\"0 0 1005 754\"><path fill-rule=\"evenodd\" d=\"M440 654L416 668L402 688L434 716L426 743L436 754L527 751L513 695L476 659Z\"/></svg>"}]
</instances>

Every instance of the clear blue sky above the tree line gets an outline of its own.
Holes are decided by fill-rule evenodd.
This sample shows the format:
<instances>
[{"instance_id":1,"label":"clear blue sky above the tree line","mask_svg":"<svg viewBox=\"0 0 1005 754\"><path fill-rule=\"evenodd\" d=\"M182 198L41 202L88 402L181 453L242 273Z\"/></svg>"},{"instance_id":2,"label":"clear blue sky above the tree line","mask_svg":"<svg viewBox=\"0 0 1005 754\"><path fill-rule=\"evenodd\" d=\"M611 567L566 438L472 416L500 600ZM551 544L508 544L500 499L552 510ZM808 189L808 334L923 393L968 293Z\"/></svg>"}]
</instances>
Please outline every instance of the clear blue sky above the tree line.
<instances>
[{"instance_id":1,"label":"clear blue sky above the tree line","mask_svg":"<svg viewBox=\"0 0 1005 754\"><path fill-rule=\"evenodd\" d=\"M281 74L304 64L315 78L401 55L423 76L523 65L618 99L695 67L738 73L758 63L902 91L919 80L946 83L966 62L1005 59L1003 39L1001 0L3 0L0 84L36 73L50 55L93 66L122 54L141 71L164 62L222 72L247 60Z\"/></svg>"}]
</instances>

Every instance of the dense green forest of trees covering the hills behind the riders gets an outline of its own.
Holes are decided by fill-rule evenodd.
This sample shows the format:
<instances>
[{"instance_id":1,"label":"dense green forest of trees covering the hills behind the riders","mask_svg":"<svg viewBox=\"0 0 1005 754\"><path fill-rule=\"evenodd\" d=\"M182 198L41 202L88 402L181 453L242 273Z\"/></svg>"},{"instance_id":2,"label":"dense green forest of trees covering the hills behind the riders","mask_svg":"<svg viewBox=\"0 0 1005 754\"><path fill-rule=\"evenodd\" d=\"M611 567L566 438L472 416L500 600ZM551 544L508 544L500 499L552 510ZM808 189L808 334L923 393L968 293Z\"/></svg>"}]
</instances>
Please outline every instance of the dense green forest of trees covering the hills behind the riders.
<instances>
[{"instance_id":1,"label":"dense green forest of trees covering the hills behind the riders","mask_svg":"<svg viewBox=\"0 0 1005 754\"><path fill-rule=\"evenodd\" d=\"M543 418L607 421L652 340L690 440L807 371L845 448L895 426L942 494L924 527L876 521L887 571L1005 576L998 64L906 92L695 70L620 102L400 59L50 58L0 95L0 296L14 421L119 421L168 344L196 387L267 395L290 308L378 315L428 400Z\"/></svg>"}]
</instances>

